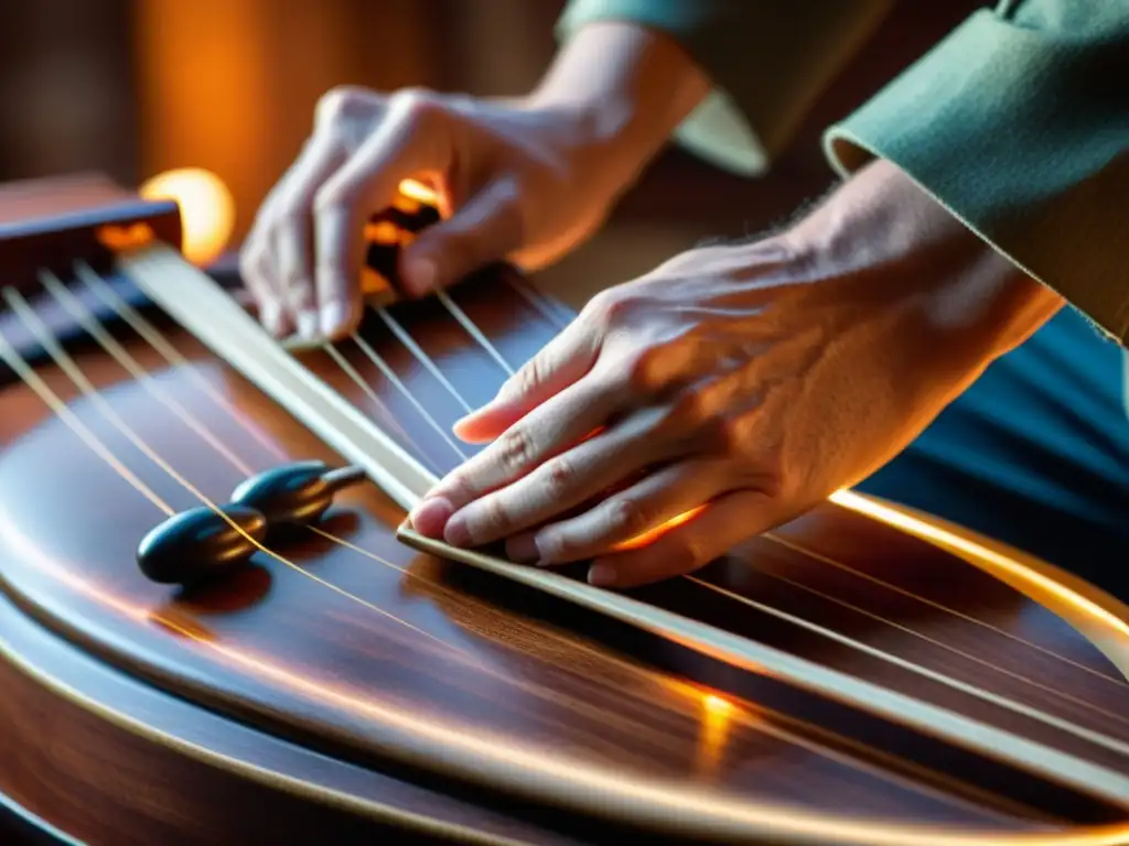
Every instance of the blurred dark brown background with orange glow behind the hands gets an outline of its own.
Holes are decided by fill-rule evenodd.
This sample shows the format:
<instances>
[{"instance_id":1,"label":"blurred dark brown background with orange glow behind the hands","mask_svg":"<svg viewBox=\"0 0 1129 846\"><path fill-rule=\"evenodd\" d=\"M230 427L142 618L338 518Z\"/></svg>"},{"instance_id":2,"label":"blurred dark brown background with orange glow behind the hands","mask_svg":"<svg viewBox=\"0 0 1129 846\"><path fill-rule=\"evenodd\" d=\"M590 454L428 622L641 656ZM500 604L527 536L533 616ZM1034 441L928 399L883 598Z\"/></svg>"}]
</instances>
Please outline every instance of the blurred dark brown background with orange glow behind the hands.
<instances>
[{"instance_id":1,"label":"blurred dark brown background with orange glow behind the hands","mask_svg":"<svg viewBox=\"0 0 1129 846\"><path fill-rule=\"evenodd\" d=\"M982 5L896 3L767 177L742 179L668 150L606 230L541 282L579 305L703 236L752 233L787 218L832 183L820 130ZM0 179L97 170L133 187L168 169L205 168L234 195L237 246L306 138L323 91L352 83L523 92L551 60L563 6L3 0Z\"/></svg>"}]
</instances>

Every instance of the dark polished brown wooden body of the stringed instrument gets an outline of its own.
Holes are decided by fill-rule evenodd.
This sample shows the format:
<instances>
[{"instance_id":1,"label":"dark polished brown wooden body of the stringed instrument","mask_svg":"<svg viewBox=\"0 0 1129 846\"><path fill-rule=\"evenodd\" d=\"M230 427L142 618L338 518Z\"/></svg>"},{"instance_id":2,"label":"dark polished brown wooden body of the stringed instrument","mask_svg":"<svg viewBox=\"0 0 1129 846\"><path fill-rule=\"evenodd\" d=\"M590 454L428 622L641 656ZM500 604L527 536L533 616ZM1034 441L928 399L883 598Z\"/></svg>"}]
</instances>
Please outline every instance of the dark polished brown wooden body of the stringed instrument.
<instances>
[{"instance_id":1,"label":"dark polished brown wooden body of the stringed instrument","mask_svg":"<svg viewBox=\"0 0 1129 846\"><path fill-rule=\"evenodd\" d=\"M129 298L128 281L105 279ZM742 802L981 832L1126 816L422 555L395 540L403 512L370 485L342 496L320 531L272 545L280 558L256 556L226 582L190 592L148 582L134 549L165 514L130 478L180 510L201 495L222 504L248 473L286 460L341 459L172 321L142 315L183 360L105 308L116 301L105 290L65 281L116 341L68 346L85 389L44 354L34 325L0 314L0 333L73 415L6 374L0 794L46 823L114 844L342 843L382 829L570 843L631 831L728 839L737 823L726 813ZM522 284L498 271L452 292L513 367L558 328ZM59 307L24 289L36 314ZM388 314L435 370L376 317L340 358L303 361L447 470L473 448L440 430L507 372L435 300ZM828 504L698 576L633 594L1129 776L1124 755L960 687L1129 743L1129 687L1101 652L924 540ZM703 823L711 814L717 826Z\"/></svg>"}]
</instances>

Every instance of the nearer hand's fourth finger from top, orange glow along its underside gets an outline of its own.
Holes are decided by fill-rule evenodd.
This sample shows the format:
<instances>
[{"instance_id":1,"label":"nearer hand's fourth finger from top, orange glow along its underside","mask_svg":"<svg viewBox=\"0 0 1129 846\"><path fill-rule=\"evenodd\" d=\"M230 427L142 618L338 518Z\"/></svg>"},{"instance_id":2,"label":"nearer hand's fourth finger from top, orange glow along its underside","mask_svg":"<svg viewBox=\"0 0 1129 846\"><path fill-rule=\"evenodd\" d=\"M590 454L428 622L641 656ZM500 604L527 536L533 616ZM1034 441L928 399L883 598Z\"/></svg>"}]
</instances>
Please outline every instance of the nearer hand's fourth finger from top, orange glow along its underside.
<instances>
[{"instance_id":1,"label":"nearer hand's fourth finger from top, orange glow along its underside","mask_svg":"<svg viewBox=\"0 0 1129 846\"><path fill-rule=\"evenodd\" d=\"M535 559L541 565L566 564L616 547L642 547L659 532L692 520L695 509L725 490L727 475L726 464L717 460L663 467L583 513L539 529L533 536ZM515 538L514 546L528 552L524 539Z\"/></svg>"}]
</instances>

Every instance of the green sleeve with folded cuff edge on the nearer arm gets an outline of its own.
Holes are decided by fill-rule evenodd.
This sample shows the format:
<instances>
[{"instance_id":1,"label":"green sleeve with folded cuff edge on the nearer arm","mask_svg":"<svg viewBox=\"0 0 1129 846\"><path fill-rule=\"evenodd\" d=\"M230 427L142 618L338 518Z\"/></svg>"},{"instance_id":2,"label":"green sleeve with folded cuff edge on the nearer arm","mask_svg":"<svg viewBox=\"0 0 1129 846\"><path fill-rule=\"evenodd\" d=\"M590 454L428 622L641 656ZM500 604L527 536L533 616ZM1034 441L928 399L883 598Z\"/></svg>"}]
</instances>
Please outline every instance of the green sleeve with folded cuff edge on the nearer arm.
<instances>
[{"instance_id":1,"label":"green sleeve with folded cuff edge on the nearer arm","mask_svg":"<svg viewBox=\"0 0 1129 846\"><path fill-rule=\"evenodd\" d=\"M977 12L839 125L842 175L914 178L1017 266L1129 340L1129 0Z\"/></svg>"}]
</instances>

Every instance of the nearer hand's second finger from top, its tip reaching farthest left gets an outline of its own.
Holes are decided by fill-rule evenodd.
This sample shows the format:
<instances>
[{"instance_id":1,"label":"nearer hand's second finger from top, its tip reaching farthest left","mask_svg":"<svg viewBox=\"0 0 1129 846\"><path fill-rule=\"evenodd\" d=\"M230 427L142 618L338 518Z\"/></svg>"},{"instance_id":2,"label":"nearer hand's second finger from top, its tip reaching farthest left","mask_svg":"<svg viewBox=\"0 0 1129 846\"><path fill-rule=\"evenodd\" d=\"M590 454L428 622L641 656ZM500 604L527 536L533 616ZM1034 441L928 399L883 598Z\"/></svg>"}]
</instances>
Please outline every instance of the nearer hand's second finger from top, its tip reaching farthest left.
<instances>
[{"instance_id":1,"label":"nearer hand's second finger from top, its tip reaching farthest left","mask_svg":"<svg viewBox=\"0 0 1129 846\"><path fill-rule=\"evenodd\" d=\"M583 380L527 414L428 492L411 513L423 535L444 534L460 509L578 443L619 411L607 381Z\"/></svg>"}]
</instances>

